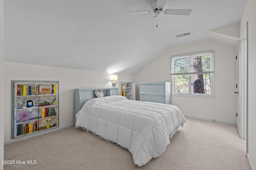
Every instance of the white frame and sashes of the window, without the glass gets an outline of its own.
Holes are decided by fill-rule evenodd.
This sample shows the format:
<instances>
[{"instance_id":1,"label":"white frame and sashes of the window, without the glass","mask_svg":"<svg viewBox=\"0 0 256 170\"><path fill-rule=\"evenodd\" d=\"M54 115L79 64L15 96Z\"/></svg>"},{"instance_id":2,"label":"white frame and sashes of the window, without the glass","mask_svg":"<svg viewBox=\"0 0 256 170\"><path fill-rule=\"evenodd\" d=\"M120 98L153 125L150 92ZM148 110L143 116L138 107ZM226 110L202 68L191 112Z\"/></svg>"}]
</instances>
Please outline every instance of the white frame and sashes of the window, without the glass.
<instances>
[{"instance_id":1,"label":"white frame and sashes of the window, without the glass","mask_svg":"<svg viewBox=\"0 0 256 170\"><path fill-rule=\"evenodd\" d=\"M175 81L174 81L174 76L178 75L174 73L174 60L175 59L182 59L188 57L188 62L189 66L192 66L192 59L193 57L196 57L198 55L210 53L210 61L211 61L211 70L209 72L200 72L202 74L208 74L210 73L210 88L211 88L211 94L194 94L192 92L193 84L192 84L192 75L193 74L198 74L198 72L192 72L192 67L189 67L189 72L188 74L188 80L189 80L189 93L187 94L182 94L182 93L176 93L175 92ZM182 73L186 74L186 73ZM171 57L171 82L172 82L172 89L171 89L171 95L172 96L187 96L187 97L199 97L199 98L214 98L214 50L211 51L203 51L199 53L190 53L190 54L185 54L185 55L176 55Z\"/></svg>"}]
</instances>

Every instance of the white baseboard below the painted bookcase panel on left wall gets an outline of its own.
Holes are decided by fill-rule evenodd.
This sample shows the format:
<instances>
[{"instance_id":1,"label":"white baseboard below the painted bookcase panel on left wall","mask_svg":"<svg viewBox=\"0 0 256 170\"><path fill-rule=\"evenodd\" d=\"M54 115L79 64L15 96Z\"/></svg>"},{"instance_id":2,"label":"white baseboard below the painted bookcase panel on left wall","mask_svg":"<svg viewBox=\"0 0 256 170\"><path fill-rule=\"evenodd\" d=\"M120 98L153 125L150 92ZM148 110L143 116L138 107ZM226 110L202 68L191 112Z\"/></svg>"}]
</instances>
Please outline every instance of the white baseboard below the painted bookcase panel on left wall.
<instances>
[{"instance_id":1,"label":"white baseboard below the painted bookcase panel on left wall","mask_svg":"<svg viewBox=\"0 0 256 170\"><path fill-rule=\"evenodd\" d=\"M11 143L14 143L14 142L18 142L18 141L22 141L22 140L25 140L25 139L29 139L29 138L32 138L32 137L37 137L37 136L40 136L40 135L44 135L46 133L58 131L58 130L65 129L67 127L72 127L72 126L74 126L74 123L70 124L70 125L65 125L65 126L62 126L62 127L57 127L57 128L54 128L54 129L49 129L47 131L33 133L31 135L27 135L27 136L24 136L24 137L19 137L19 138L11 139L9 141L4 141L4 145L8 145L8 144L11 144Z\"/></svg>"}]
</instances>

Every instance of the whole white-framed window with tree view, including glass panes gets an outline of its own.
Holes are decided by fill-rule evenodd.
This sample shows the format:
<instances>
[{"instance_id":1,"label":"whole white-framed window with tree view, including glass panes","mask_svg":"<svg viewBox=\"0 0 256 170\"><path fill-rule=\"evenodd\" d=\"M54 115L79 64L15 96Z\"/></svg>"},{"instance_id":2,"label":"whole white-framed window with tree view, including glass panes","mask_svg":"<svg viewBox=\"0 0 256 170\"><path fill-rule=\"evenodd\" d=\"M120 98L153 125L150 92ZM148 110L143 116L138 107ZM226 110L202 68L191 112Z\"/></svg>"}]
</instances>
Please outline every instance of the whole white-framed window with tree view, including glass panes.
<instances>
[{"instance_id":1,"label":"whole white-framed window with tree view, including glass panes","mask_svg":"<svg viewBox=\"0 0 256 170\"><path fill-rule=\"evenodd\" d=\"M214 51L171 58L172 95L214 97Z\"/></svg>"}]
</instances>

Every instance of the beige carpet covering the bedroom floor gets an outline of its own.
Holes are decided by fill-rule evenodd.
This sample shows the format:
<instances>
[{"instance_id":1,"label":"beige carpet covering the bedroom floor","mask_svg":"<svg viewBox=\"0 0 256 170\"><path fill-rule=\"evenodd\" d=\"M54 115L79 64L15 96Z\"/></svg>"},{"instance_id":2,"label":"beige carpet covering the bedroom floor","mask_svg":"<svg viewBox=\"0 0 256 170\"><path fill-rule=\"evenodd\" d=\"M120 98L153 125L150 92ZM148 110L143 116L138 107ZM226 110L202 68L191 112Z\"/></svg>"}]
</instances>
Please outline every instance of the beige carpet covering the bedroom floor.
<instances>
[{"instance_id":1,"label":"beige carpet covering the bedroom floor","mask_svg":"<svg viewBox=\"0 0 256 170\"><path fill-rule=\"evenodd\" d=\"M187 118L158 158L134 164L132 154L90 132L69 127L4 146L5 170L250 170L246 141L235 125ZM17 164L17 161L25 164ZM28 164L28 160L36 164Z\"/></svg>"}]
</instances>

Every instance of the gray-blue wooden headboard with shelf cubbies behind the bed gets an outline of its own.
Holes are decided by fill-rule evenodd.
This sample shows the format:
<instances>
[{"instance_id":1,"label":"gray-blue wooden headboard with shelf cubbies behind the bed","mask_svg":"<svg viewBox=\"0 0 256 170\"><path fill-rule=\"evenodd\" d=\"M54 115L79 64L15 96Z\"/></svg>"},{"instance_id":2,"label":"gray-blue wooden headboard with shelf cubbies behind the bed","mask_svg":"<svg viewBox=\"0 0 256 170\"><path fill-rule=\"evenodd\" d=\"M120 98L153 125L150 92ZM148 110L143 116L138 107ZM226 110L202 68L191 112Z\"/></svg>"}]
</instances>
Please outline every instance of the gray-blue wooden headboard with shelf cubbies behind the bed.
<instances>
[{"instance_id":1,"label":"gray-blue wooden headboard with shelf cubbies behind the bed","mask_svg":"<svg viewBox=\"0 0 256 170\"><path fill-rule=\"evenodd\" d=\"M74 126L76 126L76 113L84 106L84 103L90 99L97 98L95 90L102 90L104 96L113 96L118 94L118 87L108 88L76 88L75 89L75 114Z\"/></svg>"}]
</instances>

